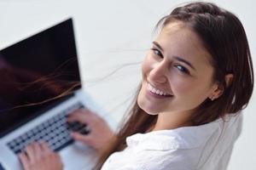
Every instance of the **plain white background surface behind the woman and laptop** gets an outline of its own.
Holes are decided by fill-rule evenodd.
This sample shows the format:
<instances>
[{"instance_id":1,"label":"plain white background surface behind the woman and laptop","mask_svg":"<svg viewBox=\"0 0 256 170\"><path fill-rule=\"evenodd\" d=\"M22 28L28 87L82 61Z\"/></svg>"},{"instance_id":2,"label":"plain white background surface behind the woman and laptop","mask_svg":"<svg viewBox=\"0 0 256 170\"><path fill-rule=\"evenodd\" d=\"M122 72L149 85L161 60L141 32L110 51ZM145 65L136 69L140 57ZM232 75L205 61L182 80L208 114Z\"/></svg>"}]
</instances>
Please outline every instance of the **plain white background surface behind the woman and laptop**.
<instances>
[{"instance_id":1,"label":"plain white background surface behind the woman and laptop","mask_svg":"<svg viewBox=\"0 0 256 170\"><path fill-rule=\"evenodd\" d=\"M140 65L127 66L99 81L121 65L143 60L152 41L157 20L170 12L175 0L86 1L86 0L0 0L0 48L52 26L72 16L74 19L82 77L86 90L119 122L140 80ZM239 16L256 54L253 0L215 0ZM256 70L255 70L256 71ZM229 170L256 169L256 137L253 133L255 93L244 116Z\"/></svg>"}]
</instances>

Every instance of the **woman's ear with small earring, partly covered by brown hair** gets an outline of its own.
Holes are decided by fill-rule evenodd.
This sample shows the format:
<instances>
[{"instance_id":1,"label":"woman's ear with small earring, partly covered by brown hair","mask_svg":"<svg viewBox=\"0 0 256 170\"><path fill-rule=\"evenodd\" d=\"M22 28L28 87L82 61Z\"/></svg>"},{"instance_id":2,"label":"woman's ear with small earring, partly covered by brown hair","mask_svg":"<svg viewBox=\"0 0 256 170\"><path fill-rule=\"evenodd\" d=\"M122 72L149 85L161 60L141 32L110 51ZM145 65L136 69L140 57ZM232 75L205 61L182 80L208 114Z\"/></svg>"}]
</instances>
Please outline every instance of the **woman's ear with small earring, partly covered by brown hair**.
<instances>
[{"instance_id":1,"label":"woman's ear with small earring, partly covered by brown hair","mask_svg":"<svg viewBox=\"0 0 256 170\"><path fill-rule=\"evenodd\" d=\"M233 81L233 74L227 74L225 76L226 87L229 87ZM212 94L209 99L218 99L224 93L224 86L222 84L216 83L213 87Z\"/></svg>"}]
</instances>

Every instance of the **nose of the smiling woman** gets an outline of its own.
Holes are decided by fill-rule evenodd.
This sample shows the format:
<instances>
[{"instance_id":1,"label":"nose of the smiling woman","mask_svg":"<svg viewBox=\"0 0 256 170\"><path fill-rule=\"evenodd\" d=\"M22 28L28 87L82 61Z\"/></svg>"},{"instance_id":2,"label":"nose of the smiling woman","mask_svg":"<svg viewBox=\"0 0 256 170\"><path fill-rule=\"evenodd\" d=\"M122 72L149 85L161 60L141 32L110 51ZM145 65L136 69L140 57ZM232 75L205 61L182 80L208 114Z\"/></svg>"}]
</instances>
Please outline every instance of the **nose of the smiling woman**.
<instances>
[{"instance_id":1,"label":"nose of the smiling woman","mask_svg":"<svg viewBox=\"0 0 256 170\"><path fill-rule=\"evenodd\" d=\"M152 82L165 83L167 82L167 65L164 60L160 63L154 64L152 70L149 72L148 79Z\"/></svg>"}]
</instances>

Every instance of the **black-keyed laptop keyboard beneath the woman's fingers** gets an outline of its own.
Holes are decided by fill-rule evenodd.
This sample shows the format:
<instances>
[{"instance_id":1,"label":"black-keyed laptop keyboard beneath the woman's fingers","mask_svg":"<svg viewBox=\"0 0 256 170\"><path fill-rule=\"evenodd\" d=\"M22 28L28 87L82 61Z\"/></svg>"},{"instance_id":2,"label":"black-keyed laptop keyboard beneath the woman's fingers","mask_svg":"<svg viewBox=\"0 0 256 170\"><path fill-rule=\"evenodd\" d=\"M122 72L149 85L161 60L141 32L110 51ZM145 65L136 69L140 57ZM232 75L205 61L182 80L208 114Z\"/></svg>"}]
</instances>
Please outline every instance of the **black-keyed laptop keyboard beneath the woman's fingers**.
<instances>
[{"instance_id":1,"label":"black-keyed laptop keyboard beneath the woman's fingers","mask_svg":"<svg viewBox=\"0 0 256 170\"><path fill-rule=\"evenodd\" d=\"M90 133L89 129L84 124L79 122L67 122L67 115L79 108L84 108L84 105L76 103L70 106L67 110L61 111L61 113L41 123L37 127L21 134L7 145L15 154L19 154L23 151L25 146L32 143L32 141L45 141L52 150L61 150L68 144L73 143L73 139L69 134L71 131L83 134Z\"/></svg>"}]
</instances>

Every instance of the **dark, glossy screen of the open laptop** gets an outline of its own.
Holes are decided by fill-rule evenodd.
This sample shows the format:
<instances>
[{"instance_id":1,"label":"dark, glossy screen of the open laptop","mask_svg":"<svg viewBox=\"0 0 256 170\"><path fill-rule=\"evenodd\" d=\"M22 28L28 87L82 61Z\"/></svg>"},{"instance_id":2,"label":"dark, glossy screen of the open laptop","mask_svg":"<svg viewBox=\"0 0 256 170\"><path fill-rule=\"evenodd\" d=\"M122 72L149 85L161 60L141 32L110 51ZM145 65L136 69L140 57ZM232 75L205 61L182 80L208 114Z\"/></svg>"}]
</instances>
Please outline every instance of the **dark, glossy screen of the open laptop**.
<instances>
[{"instance_id":1,"label":"dark, glossy screen of the open laptop","mask_svg":"<svg viewBox=\"0 0 256 170\"><path fill-rule=\"evenodd\" d=\"M81 88L73 21L0 51L0 136Z\"/></svg>"}]
</instances>

